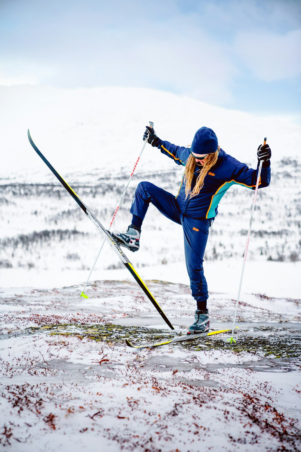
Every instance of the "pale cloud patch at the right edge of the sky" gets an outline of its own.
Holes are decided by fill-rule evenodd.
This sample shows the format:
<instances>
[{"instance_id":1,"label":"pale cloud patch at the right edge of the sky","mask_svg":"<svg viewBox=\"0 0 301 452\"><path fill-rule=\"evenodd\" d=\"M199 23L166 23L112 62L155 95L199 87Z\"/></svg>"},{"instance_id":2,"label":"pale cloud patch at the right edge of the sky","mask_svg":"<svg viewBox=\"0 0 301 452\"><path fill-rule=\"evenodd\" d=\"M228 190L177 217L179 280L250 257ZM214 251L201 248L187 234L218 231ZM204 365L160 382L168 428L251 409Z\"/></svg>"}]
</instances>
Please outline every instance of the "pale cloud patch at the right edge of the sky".
<instances>
[{"instance_id":1,"label":"pale cloud patch at the right edge of the sky","mask_svg":"<svg viewBox=\"0 0 301 452\"><path fill-rule=\"evenodd\" d=\"M238 33L234 52L259 80L273 82L301 75L301 30L285 34Z\"/></svg>"}]
</instances>

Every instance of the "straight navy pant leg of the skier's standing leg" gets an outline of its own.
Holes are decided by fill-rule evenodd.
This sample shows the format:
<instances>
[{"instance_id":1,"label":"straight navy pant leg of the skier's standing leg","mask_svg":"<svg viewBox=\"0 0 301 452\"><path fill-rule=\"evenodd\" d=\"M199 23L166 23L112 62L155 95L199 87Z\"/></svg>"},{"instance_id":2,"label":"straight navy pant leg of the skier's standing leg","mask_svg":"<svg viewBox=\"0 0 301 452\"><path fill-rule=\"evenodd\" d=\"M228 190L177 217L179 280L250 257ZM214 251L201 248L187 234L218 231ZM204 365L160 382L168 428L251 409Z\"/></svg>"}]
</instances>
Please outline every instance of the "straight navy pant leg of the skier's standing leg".
<instances>
[{"instance_id":1,"label":"straight navy pant leg of the skier's standing leg","mask_svg":"<svg viewBox=\"0 0 301 452\"><path fill-rule=\"evenodd\" d=\"M195 301L205 303L208 299L207 281L203 262L211 220L195 220L183 217L184 248L190 288ZM204 307L206 309L206 307Z\"/></svg>"}]
</instances>

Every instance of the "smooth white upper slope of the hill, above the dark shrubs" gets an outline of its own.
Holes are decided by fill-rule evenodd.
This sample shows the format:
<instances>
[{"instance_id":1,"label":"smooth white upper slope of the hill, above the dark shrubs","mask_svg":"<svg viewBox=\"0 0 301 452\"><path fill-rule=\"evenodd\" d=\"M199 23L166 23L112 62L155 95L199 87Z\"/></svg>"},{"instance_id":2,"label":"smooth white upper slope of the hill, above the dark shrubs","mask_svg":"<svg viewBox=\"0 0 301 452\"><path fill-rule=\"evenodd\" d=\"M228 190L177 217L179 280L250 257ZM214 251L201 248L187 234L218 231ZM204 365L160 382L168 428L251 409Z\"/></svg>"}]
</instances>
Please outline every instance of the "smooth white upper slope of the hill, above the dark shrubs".
<instances>
[{"instance_id":1,"label":"smooth white upper slope of the hill, above the dark shrubs","mask_svg":"<svg viewBox=\"0 0 301 452\"><path fill-rule=\"evenodd\" d=\"M20 170L22 182L31 182L32 172L47 173L29 147L28 128L33 141L64 174L97 168L104 176L120 169L122 163L125 168L131 166L148 121L154 121L159 137L181 146L191 143L199 127L212 127L220 146L250 165L256 164L257 146L264 136L274 162L283 156L299 156L300 126L151 89L2 86L0 101L4 150L0 174ZM165 169L170 168L170 162L158 161L149 147L139 166L141 170ZM30 171L30 177L25 170Z\"/></svg>"}]
</instances>

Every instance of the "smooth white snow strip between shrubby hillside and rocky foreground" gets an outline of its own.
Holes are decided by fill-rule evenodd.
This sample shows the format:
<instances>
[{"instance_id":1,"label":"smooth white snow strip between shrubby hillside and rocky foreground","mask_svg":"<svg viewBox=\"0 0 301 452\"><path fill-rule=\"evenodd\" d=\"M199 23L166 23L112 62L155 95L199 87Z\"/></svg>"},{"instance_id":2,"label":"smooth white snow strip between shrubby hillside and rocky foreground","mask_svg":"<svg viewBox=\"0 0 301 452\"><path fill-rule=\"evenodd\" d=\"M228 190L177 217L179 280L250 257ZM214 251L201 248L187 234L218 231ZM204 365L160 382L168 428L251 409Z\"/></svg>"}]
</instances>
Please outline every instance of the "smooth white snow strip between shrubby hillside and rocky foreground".
<instances>
[{"instance_id":1,"label":"smooth white snow strip between shrubby hillside and rocky foreground","mask_svg":"<svg viewBox=\"0 0 301 452\"><path fill-rule=\"evenodd\" d=\"M131 258L132 255L129 255ZM101 259L101 257L100 257ZM283 280L283 266L285 265L285 280ZM215 292L231 293L237 297L239 278L241 274L242 258L228 259L224 261L206 262L205 274L209 287ZM185 262L177 262L165 265L145 266L138 269L143 279L160 279L163 281L180 282L189 285ZM1 273L3 287L38 287L52 288L63 285L71 286L81 282L84 286L89 272L85 270L68 270L59 273L51 273L42 269L2 268ZM242 286L242 293L264 293L269 297L299 298L301 262L247 262ZM125 268L97 272L97 277L105 280L130 279ZM92 276L93 279L93 276ZM272 282L267 284L267 282ZM87 289L88 290L88 289Z\"/></svg>"}]
</instances>

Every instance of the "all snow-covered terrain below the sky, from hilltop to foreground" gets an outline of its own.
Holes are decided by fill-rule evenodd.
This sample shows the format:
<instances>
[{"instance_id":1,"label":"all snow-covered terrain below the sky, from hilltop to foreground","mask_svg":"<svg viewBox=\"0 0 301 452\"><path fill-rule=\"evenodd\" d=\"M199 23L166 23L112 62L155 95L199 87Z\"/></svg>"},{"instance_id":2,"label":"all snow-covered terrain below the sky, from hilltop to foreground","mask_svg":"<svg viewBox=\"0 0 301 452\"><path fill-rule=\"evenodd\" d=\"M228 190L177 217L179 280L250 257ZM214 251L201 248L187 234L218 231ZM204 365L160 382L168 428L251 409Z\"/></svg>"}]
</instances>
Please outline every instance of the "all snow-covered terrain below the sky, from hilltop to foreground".
<instances>
[{"instance_id":1,"label":"all snow-covered terrain below the sky, from hilltop to foreground","mask_svg":"<svg viewBox=\"0 0 301 452\"><path fill-rule=\"evenodd\" d=\"M6 450L300 450L300 127L149 89L0 87L1 425ZM185 333L194 301L181 227L152 206L129 258L175 332L153 311L99 232L32 150L109 225L153 120L188 145L202 125L250 166L263 137L272 181L259 190L229 334L133 351ZM287 146L290 143L290 146ZM146 146L114 228L129 224L140 180L177 193L183 168ZM231 328L253 193L228 190L206 249L211 327Z\"/></svg>"}]
</instances>

